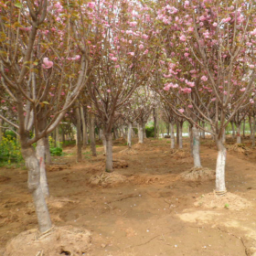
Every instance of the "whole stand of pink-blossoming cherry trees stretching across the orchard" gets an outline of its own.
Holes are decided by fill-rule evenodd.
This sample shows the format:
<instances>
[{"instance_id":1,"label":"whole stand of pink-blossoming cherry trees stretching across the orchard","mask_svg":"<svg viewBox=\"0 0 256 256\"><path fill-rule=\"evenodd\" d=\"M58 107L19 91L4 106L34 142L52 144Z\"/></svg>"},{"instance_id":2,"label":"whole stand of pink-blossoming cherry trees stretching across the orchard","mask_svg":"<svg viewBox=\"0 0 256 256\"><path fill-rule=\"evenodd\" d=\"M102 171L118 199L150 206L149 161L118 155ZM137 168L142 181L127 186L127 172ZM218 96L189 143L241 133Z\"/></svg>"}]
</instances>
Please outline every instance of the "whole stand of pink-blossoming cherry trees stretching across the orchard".
<instances>
[{"instance_id":1,"label":"whole stand of pink-blossoming cherry trees stretching across the orchard","mask_svg":"<svg viewBox=\"0 0 256 256\"><path fill-rule=\"evenodd\" d=\"M230 122L240 127L248 113L255 126L253 1L11 0L0 8L0 118L19 136L40 231L52 225L46 136L75 116L80 143L85 108L90 127L101 125L106 171L112 171L115 123L131 128L136 120L142 143L155 106L171 123L173 146L175 120L180 134L182 123L191 123L196 166L198 128L212 133L219 151L216 190L226 192L224 130Z\"/></svg>"}]
</instances>

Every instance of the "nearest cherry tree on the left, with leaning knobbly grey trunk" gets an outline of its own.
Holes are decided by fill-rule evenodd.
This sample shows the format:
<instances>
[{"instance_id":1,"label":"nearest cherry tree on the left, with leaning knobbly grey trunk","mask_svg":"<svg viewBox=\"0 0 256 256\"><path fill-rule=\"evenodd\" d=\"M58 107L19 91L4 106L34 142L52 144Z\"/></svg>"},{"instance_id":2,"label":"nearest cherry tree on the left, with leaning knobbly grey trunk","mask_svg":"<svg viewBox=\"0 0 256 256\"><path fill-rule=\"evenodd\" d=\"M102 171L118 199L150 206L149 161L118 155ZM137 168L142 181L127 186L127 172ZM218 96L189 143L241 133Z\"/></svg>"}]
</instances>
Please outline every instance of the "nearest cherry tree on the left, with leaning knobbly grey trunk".
<instances>
[{"instance_id":1,"label":"nearest cherry tree on the left, with leaning knobbly grey trunk","mask_svg":"<svg viewBox=\"0 0 256 256\"><path fill-rule=\"evenodd\" d=\"M48 186L43 138L56 129L78 97L93 58L86 44L86 25L77 16L83 12L90 20L92 10L72 6L48 0L0 2L0 87L17 122L1 113L0 118L18 130L41 232L52 225L44 197Z\"/></svg>"}]
</instances>

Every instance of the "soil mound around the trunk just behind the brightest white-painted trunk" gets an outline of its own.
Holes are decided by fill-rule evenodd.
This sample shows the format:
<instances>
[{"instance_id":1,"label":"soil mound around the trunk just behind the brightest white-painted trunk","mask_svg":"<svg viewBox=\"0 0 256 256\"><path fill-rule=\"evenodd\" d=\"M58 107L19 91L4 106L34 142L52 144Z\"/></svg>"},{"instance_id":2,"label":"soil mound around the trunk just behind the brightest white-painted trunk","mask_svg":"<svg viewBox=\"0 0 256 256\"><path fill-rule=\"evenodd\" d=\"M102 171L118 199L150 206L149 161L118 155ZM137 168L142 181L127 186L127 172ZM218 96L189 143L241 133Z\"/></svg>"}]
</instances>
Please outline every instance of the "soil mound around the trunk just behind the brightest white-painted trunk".
<instances>
[{"instance_id":1,"label":"soil mound around the trunk just behind the brightest white-painted trunk","mask_svg":"<svg viewBox=\"0 0 256 256\"><path fill-rule=\"evenodd\" d=\"M215 179L216 172L204 167L193 167L179 175L179 178L186 181L205 181Z\"/></svg>"}]
</instances>

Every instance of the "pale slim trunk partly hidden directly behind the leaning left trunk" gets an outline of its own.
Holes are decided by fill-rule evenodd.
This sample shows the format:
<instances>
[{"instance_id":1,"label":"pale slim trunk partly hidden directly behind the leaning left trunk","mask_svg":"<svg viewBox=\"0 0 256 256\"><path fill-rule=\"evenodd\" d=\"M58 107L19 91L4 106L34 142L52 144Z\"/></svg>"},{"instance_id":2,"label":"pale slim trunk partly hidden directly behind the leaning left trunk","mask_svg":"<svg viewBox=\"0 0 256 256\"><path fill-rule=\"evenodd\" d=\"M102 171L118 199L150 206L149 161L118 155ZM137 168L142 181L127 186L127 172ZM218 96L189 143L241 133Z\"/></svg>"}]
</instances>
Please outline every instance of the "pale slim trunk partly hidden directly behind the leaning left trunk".
<instances>
[{"instance_id":1,"label":"pale slim trunk partly hidden directly behind the leaning left trunk","mask_svg":"<svg viewBox=\"0 0 256 256\"><path fill-rule=\"evenodd\" d=\"M39 141L37 141L36 155L37 155L37 160L39 162L39 168L40 168L40 186L42 188L44 196L48 197L49 196L48 179L47 179L46 163L45 163L45 156L46 156L45 138L42 138Z\"/></svg>"}]
</instances>

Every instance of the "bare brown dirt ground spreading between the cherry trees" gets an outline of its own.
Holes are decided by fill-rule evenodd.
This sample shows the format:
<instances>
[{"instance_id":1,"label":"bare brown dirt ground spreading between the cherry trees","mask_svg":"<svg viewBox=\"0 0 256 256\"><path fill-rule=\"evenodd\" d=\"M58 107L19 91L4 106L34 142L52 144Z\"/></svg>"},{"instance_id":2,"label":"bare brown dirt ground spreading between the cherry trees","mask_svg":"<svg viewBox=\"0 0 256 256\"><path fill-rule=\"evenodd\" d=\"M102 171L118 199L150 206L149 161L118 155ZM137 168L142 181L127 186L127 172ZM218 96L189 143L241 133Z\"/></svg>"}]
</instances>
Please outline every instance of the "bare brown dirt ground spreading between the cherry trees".
<instances>
[{"instance_id":1,"label":"bare brown dirt ground spreading between the cherry trees","mask_svg":"<svg viewBox=\"0 0 256 256\"><path fill-rule=\"evenodd\" d=\"M256 150L228 152L229 193L219 199L213 179L179 178L193 167L188 140L184 144L182 154L176 154L169 139L147 139L133 144L132 152L123 141L114 142L112 179L101 175L102 146L97 157L84 149L82 163L76 163L74 147L65 148L65 155L53 157L55 164L48 166L54 225L89 230L91 245L83 253L88 256L256 255ZM202 140L200 151L202 165L214 170L215 144ZM0 255L8 240L29 229L37 229L37 218L27 171L1 168ZM36 256L31 251L20 255Z\"/></svg>"}]
</instances>

